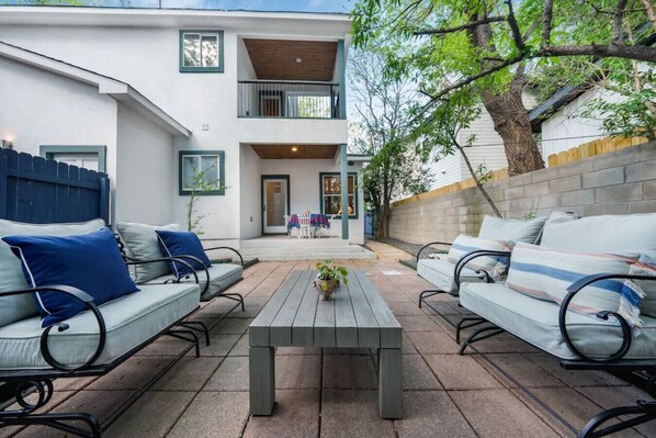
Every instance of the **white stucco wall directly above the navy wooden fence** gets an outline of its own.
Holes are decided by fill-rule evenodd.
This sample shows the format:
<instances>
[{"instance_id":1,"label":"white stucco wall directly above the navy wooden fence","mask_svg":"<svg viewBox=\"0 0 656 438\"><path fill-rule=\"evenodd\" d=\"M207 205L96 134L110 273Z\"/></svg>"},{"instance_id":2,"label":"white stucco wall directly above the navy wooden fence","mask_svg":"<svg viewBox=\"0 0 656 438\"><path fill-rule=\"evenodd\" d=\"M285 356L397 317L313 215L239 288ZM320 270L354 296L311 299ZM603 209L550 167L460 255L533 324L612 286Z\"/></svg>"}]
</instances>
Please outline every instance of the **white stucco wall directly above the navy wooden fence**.
<instances>
[{"instance_id":1,"label":"white stucco wall directly above the navy wooden fence","mask_svg":"<svg viewBox=\"0 0 656 438\"><path fill-rule=\"evenodd\" d=\"M116 177L117 102L98 88L0 58L0 138L20 153L41 145L105 146L111 186ZM116 200L112 190L114 217Z\"/></svg>"}]
</instances>

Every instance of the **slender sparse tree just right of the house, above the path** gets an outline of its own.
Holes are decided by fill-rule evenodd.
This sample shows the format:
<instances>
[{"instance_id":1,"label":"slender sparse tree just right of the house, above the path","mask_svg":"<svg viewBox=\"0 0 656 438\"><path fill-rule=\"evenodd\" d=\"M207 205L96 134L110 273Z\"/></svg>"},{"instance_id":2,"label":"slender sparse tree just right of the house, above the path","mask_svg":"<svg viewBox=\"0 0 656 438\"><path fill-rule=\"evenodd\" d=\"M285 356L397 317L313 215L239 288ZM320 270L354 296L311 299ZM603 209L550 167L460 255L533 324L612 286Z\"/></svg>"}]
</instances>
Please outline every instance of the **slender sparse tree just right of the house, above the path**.
<instances>
[{"instance_id":1,"label":"slender sparse tree just right of the house, above the path","mask_svg":"<svg viewBox=\"0 0 656 438\"><path fill-rule=\"evenodd\" d=\"M374 211L378 237L388 235L392 200L425 192L431 182L409 137L411 87L381 75L383 66L381 55L358 50L349 70L358 119L351 147L372 156L362 170L362 189Z\"/></svg>"}]
</instances>

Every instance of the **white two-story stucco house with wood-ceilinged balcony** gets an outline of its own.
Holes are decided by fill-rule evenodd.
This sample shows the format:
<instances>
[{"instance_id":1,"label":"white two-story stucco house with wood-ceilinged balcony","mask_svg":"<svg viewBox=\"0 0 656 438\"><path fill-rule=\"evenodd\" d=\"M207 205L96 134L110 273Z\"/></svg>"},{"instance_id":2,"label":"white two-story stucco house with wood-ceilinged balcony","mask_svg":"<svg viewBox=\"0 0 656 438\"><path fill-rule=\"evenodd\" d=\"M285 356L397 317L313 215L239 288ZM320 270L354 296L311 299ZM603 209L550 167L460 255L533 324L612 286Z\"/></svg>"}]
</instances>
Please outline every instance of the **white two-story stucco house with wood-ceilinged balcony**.
<instances>
[{"instance_id":1,"label":"white two-story stucco house with wood-ceilinged balcony","mask_svg":"<svg viewBox=\"0 0 656 438\"><path fill-rule=\"evenodd\" d=\"M206 239L337 214L346 190L353 213L332 227L362 243L350 29L343 14L0 7L0 138L108 171L112 221L185 223L193 169L208 168L227 189L199 200Z\"/></svg>"}]
</instances>

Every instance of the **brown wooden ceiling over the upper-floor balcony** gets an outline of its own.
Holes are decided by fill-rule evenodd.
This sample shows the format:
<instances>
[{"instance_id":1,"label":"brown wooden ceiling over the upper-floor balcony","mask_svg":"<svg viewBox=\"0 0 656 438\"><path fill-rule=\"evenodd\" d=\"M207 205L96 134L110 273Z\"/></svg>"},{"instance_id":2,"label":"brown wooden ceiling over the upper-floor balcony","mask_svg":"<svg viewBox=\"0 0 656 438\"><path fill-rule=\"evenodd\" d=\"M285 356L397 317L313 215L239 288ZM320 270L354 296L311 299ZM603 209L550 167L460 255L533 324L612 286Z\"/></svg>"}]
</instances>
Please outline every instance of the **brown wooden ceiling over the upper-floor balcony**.
<instances>
[{"instance_id":1,"label":"brown wooden ceiling over the upper-floor balcony","mask_svg":"<svg viewBox=\"0 0 656 438\"><path fill-rule=\"evenodd\" d=\"M332 81L336 42L245 38L244 43L258 79Z\"/></svg>"}]
</instances>

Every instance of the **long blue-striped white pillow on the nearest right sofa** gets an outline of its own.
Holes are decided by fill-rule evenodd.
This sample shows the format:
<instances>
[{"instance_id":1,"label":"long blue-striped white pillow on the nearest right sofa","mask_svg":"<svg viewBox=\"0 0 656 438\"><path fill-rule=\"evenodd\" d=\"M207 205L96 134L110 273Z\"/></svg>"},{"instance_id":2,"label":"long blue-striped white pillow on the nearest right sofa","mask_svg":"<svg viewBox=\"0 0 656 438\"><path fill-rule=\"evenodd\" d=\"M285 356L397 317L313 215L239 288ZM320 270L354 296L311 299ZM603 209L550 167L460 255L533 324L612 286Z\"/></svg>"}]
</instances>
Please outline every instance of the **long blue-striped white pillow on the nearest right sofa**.
<instances>
[{"instance_id":1,"label":"long blue-striped white pillow on the nearest right sofa","mask_svg":"<svg viewBox=\"0 0 656 438\"><path fill-rule=\"evenodd\" d=\"M638 254L576 252L519 243L512 250L506 285L540 300L562 303L567 288L596 273L629 273ZM618 312L640 333L642 289L632 281L608 279L583 289L569 310L596 315L600 311Z\"/></svg>"}]
</instances>

